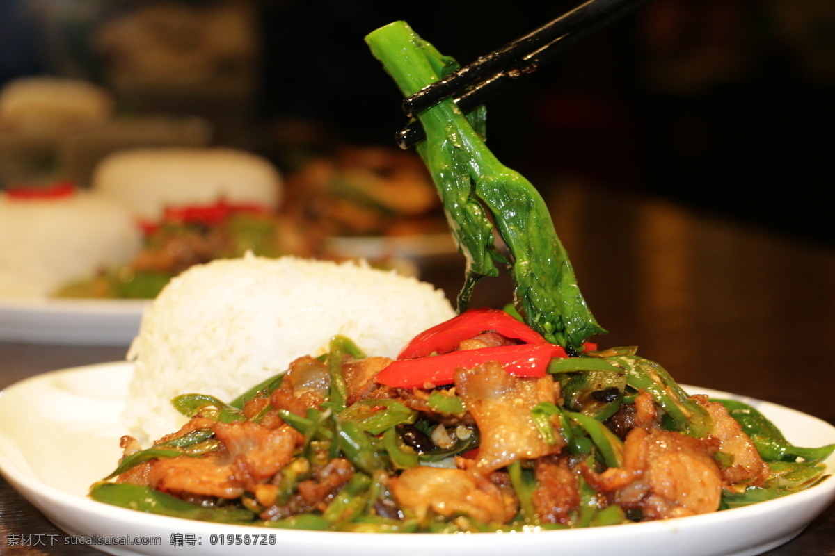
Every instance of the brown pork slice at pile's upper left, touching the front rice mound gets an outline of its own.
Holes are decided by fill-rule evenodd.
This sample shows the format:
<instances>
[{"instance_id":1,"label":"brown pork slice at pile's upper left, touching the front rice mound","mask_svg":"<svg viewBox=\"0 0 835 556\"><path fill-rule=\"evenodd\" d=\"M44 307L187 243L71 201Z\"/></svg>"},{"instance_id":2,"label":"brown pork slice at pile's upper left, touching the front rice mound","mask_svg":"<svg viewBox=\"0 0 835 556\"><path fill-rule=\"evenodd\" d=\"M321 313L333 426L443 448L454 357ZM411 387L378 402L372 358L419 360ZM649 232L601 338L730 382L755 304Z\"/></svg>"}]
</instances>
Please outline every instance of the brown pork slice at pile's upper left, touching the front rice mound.
<instances>
[{"instance_id":1,"label":"brown pork slice at pile's upper left, touching the front rice mound","mask_svg":"<svg viewBox=\"0 0 835 556\"><path fill-rule=\"evenodd\" d=\"M307 408L318 408L325 401L330 383L327 365L306 355L290 363L281 387L270 396L270 403L276 409L304 415Z\"/></svg>"}]
</instances>

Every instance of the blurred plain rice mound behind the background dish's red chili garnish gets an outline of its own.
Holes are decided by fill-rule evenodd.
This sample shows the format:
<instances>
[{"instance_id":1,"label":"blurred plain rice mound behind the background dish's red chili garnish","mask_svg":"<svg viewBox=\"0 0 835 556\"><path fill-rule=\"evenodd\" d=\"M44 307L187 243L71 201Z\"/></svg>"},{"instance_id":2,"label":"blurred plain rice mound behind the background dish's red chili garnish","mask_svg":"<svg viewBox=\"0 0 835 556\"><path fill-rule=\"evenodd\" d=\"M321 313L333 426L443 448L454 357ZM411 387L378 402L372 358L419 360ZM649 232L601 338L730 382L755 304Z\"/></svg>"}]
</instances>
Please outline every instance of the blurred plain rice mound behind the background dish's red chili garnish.
<instances>
[{"instance_id":1,"label":"blurred plain rice mound behind the background dish's red chili garnish","mask_svg":"<svg viewBox=\"0 0 835 556\"><path fill-rule=\"evenodd\" d=\"M266 158L233 148L134 148L110 154L94 169L95 191L156 222L169 206L256 203L275 209L281 174Z\"/></svg>"}]
</instances>

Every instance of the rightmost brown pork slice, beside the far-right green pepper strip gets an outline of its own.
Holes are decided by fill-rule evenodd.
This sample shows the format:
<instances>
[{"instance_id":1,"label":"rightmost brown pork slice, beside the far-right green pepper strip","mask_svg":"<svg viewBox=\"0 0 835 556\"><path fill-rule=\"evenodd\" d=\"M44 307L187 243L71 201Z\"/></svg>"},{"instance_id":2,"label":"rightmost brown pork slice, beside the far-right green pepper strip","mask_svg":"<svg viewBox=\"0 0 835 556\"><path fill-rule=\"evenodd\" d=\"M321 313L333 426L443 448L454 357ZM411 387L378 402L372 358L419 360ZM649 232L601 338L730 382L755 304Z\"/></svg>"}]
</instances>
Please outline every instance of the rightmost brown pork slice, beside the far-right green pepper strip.
<instances>
[{"instance_id":1,"label":"rightmost brown pork slice, beside the far-right green pepper strip","mask_svg":"<svg viewBox=\"0 0 835 556\"><path fill-rule=\"evenodd\" d=\"M762 486L771 469L762 461L757 447L742 430L741 424L732 418L725 406L719 402L710 402L705 395L693 396L696 403L707 409L713 419L713 436L720 441L719 451L733 456L733 463L722 468L722 478L726 485L749 483Z\"/></svg>"}]
</instances>

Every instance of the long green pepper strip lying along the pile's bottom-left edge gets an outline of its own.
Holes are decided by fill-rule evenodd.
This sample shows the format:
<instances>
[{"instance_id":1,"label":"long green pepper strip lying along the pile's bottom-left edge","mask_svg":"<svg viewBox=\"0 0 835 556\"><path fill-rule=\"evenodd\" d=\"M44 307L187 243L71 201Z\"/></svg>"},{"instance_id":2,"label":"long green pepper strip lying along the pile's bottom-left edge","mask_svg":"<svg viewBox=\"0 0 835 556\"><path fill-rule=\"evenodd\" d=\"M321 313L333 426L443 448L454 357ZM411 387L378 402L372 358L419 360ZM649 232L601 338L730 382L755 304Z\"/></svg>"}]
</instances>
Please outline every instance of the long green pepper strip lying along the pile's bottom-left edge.
<instances>
[{"instance_id":1,"label":"long green pepper strip lying along the pile's bottom-left edge","mask_svg":"<svg viewBox=\"0 0 835 556\"><path fill-rule=\"evenodd\" d=\"M140 512L214 523L251 523L256 519L256 515L247 509L202 508L138 484L95 483L90 488L90 498Z\"/></svg>"}]
</instances>

